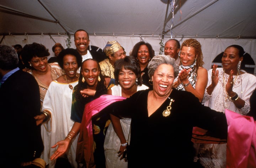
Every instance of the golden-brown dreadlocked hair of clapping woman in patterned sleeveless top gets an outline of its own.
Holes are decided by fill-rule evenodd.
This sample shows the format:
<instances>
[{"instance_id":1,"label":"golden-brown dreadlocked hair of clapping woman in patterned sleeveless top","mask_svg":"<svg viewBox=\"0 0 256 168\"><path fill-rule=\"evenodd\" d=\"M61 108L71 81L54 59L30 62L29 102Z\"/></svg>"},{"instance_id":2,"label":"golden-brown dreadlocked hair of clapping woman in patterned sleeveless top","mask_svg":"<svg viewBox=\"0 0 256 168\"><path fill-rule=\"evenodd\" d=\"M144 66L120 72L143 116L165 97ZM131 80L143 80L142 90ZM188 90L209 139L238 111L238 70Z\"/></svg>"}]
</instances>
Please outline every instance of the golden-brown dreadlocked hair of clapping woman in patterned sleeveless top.
<instances>
[{"instance_id":1,"label":"golden-brown dreadlocked hair of clapping woman in patterned sleeveless top","mask_svg":"<svg viewBox=\"0 0 256 168\"><path fill-rule=\"evenodd\" d=\"M194 48L195 56L196 56L196 65L194 66L193 70L194 70L194 73L197 74L198 67L201 66L203 68L203 64L204 64L201 44L196 39L187 39L182 43L181 50L182 50L182 47L184 46Z\"/></svg>"}]
</instances>

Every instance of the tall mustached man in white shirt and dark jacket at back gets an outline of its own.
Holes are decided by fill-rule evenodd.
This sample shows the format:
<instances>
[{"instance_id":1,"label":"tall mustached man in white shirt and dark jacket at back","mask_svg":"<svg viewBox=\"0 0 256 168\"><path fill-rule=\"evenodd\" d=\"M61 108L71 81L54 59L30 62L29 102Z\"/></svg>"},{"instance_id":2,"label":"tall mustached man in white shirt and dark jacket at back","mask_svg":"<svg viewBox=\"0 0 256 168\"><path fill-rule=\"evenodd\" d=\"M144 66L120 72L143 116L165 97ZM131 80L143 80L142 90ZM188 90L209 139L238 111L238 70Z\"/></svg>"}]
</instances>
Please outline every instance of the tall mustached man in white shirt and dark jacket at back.
<instances>
[{"instance_id":1,"label":"tall mustached man in white shirt and dark jacket at back","mask_svg":"<svg viewBox=\"0 0 256 168\"><path fill-rule=\"evenodd\" d=\"M89 40L89 34L87 33L87 31L83 29L76 30L74 34L74 42L75 42L76 50L82 56L82 61L88 58L94 58L98 62L101 62L102 60L106 59L106 56L103 52L88 50L90 45L90 40Z\"/></svg>"}]
</instances>

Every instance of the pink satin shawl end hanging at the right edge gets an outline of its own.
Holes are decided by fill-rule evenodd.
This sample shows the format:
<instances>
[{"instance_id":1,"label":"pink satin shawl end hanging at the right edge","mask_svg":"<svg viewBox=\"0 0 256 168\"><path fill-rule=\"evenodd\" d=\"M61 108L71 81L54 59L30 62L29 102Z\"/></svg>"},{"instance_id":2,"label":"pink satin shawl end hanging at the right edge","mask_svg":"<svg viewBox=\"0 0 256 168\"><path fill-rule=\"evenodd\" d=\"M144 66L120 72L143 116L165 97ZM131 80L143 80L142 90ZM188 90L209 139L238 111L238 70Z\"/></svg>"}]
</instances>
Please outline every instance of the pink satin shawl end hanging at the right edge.
<instances>
[{"instance_id":1,"label":"pink satin shawl end hanging at the right edge","mask_svg":"<svg viewBox=\"0 0 256 168\"><path fill-rule=\"evenodd\" d=\"M253 117L242 116L234 111L225 110L228 123L226 140L226 168L256 167L256 121ZM206 130L194 127L193 143L225 143L206 135Z\"/></svg>"}]
</instances>

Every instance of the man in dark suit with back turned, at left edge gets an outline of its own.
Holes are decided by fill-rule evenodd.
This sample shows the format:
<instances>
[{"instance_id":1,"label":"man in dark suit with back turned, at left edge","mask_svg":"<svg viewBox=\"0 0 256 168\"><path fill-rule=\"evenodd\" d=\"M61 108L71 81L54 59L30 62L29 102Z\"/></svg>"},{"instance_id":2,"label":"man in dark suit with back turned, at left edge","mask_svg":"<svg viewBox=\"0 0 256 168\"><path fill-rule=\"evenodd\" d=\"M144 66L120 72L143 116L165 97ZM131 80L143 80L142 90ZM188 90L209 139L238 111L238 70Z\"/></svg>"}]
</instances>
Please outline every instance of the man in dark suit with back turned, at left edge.
<instances>
[{"instance_id":1,"label":"man in dark suit with back turned, at left edge","mask_svg":"<svg viewBox=\"0 0 256 168\"><path fill-rule=\"evenodd\" d=\"M0 45L0 107L2 145L0 167L31 165L43 151L39 86L34 77L18 68L18 56L11 46Z\"/></svg>"}]
</instances>

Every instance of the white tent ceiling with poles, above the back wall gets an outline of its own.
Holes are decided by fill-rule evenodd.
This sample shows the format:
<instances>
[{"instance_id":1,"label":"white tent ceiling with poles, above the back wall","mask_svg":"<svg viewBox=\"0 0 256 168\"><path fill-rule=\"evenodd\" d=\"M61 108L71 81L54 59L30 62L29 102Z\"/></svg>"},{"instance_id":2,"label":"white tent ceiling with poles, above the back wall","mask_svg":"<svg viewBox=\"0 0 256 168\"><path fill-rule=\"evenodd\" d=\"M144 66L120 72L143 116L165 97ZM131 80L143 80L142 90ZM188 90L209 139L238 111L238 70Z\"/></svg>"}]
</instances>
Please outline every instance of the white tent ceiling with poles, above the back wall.
<instances>
[{"instance_id":1,"label":"white tent ceiling with poles, above the back wall","mask_svg":"<svg viewBox=\"0 0 256 168\"><path fill-rule=\"evenodd\" d=\"M74 34L85 29L95 35L161 36L164 32L177 37L256 39L255 0L169 2L1 0L0 35ZM173 22L171 2L175 2Z\"/></svg>"}]
</instances>

